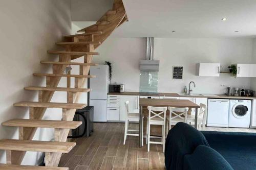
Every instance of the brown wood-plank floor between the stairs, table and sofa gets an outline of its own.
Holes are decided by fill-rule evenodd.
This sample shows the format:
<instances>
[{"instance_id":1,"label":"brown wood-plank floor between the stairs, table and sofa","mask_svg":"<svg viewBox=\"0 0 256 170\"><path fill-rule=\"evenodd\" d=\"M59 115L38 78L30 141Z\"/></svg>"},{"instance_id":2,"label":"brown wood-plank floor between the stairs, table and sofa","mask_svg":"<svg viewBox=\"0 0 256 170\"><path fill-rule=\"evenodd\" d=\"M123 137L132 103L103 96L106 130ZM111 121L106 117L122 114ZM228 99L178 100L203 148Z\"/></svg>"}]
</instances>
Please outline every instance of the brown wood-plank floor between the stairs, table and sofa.
<instances>
[{"instance_id":1,"label":"brown wood-plank floor between the stairs, table and sofa","mask_svg":"<svg viewBox=\"0 0 256 170\"><path fill-rule=\"evenodd\" d=\"M133 124L138 128L138 124ZM210 131L256 132L256 129L211 128ZM162 145L151 144L150 152L138 147L138 136L128 136L123 145L124 123L94 123L87 138L72 139L76 147L61 157L59 166L70 170L165 169Z\"/></svg>"}]
</instances>

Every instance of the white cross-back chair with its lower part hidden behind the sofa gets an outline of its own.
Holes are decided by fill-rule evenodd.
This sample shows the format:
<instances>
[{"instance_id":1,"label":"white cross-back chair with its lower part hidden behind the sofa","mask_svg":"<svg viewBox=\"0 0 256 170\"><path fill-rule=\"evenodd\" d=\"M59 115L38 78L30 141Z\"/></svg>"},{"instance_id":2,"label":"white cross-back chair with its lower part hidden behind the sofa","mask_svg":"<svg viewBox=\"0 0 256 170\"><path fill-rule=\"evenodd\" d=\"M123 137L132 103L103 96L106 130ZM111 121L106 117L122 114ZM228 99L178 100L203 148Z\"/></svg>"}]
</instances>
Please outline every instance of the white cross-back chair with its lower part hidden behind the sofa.
<instances>
[{"instance_id":1,"label":"white cross-back chair with its lower part hidden behind the sofa","mask_svg":"<svg viewBox=\"0 0 256 170\"><path fill-rule=\"evenodd\" d=\"M178 108L178 107L168 107L169 117L167 116L167 126L166 134L172 128L172 125L176 125L179 122L187 123L187 112L188 107Z\"/></svg>"}]
</instances>

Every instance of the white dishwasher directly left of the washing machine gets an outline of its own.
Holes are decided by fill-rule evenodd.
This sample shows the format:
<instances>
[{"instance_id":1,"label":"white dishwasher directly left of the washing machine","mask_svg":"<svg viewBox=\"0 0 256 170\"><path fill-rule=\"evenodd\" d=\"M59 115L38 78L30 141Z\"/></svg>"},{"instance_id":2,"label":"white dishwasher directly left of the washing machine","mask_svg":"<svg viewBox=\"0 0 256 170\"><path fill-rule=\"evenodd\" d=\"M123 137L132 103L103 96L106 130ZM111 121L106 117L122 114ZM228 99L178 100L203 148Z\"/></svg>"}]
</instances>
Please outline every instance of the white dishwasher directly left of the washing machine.
<instances>
[{"instance_id":1,"label":"white dishwasher directly left of the washing machine","mask_svg":"<svg viewBox=\"0 0 256 170\"><path fill-rule=\"evenodd\" d=\"M229 100L208 99L207 126L228 127Z\"/></svg>"}]
</instances>

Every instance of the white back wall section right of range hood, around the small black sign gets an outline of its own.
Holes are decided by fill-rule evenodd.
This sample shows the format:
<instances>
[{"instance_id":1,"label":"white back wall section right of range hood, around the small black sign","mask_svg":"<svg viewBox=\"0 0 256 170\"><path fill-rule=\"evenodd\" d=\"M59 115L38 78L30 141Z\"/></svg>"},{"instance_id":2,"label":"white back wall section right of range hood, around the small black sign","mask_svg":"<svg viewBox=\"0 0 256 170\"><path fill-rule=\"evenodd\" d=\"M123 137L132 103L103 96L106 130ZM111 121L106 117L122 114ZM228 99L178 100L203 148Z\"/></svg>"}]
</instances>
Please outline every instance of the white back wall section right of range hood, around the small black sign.
<instances>
[{"instance_id":1,"label":"white back wall section right of range hood, around the small black sign","mask_svg":"<svg viewBox=\"0 0 256 170\"><path fill-rule=\"evenodd\" d=\"M233 78L229 74L198 77L195 73L199 62L221 63L223 68L231 63L251 63L252 39L155 38L154 49L154 59L160 60L158 91L183 92L190 81L196 83L194 93L223 94L228 86L250 88L250 78ZM173 66L179 65L183 66L184 78L173 80Z\"/></svg>"}]
</instances>

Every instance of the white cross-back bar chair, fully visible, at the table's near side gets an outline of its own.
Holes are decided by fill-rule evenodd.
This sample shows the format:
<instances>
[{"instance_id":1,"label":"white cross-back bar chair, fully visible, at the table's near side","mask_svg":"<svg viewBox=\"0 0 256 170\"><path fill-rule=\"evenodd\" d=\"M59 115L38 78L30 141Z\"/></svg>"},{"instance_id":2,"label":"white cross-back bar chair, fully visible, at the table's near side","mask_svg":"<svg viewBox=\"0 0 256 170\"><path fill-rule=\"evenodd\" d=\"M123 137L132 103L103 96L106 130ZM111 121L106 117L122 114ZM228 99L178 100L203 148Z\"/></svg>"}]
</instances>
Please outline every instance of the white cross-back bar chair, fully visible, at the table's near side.
<instances>
[{"instance_id":1,"label":"white cross-back bar chair, fully visible, at the table's near side","mask_svg":"<svg viewBox=\"0 0 256 170\"><path fill-rule=\"evenodd\" d=\"M148 109L148 117L147 117L147 152L150 152L150 143L155 144L162 144L163 145L163 152L164 152L164 146L165 146L165 119L166 119L166 110L167 107L152 107L147 106ZM162 136L161 136L161 142L157 141L150 141L150 138L153 136L150 136L150 126L151 125L161 125L162 126Z\"/></svg>"}]
</instances>

